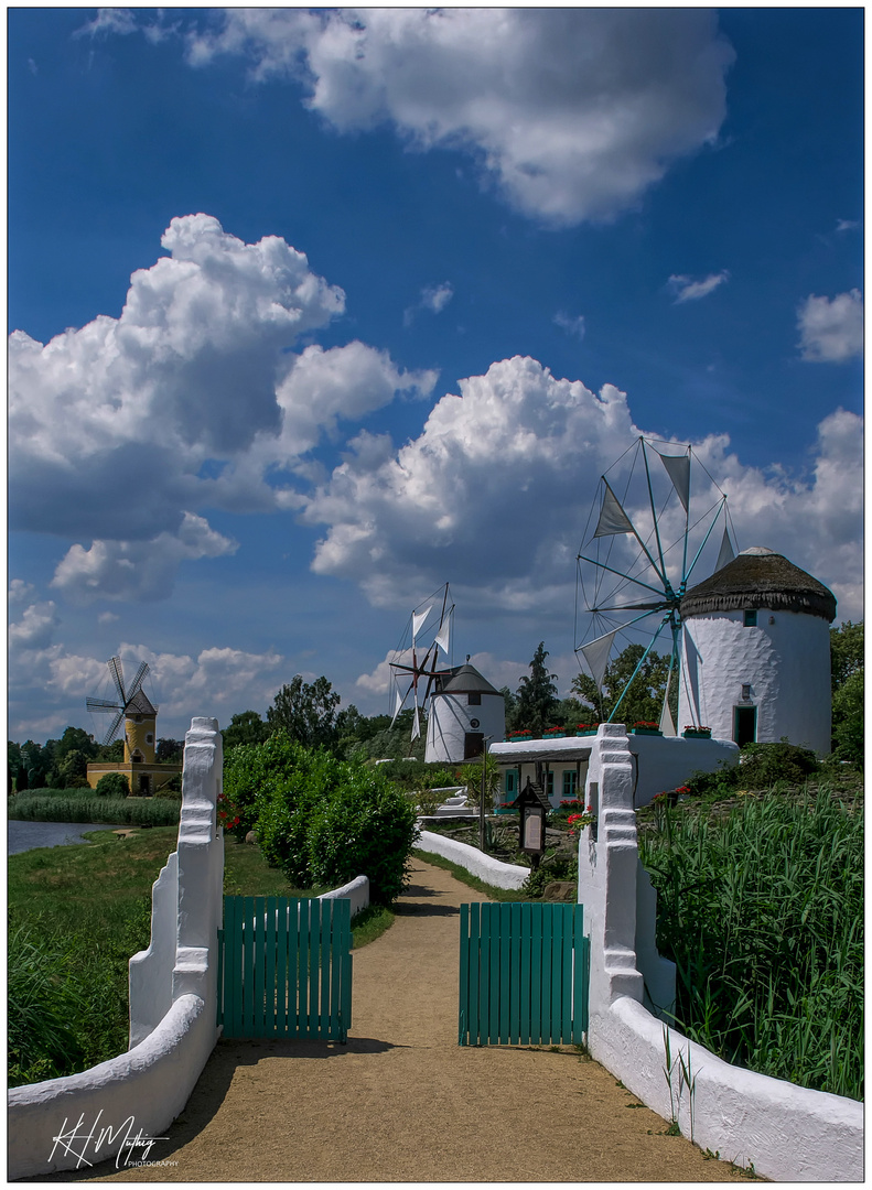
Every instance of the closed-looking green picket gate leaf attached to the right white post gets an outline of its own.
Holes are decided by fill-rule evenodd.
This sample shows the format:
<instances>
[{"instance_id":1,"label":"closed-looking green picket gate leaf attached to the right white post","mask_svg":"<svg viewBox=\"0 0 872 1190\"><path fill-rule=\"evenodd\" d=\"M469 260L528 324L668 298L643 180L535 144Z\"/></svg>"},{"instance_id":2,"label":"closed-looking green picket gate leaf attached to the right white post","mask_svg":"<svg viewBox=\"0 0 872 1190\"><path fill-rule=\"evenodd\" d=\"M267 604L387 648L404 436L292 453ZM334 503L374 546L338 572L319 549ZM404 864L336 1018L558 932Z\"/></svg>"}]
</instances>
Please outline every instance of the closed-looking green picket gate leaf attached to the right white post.
<instances>
[{"instance_id":1,"label":"closed-looking green picket gate leaf attached to the right white post","mask_svg":"<svg viewBox=\"0 0 872 1190\"><path fill-rule=\"evenodd\" d=\"M580 904L460 907L460 1045L580 1044L591 942Z\"/></svg>"}]
</instances>

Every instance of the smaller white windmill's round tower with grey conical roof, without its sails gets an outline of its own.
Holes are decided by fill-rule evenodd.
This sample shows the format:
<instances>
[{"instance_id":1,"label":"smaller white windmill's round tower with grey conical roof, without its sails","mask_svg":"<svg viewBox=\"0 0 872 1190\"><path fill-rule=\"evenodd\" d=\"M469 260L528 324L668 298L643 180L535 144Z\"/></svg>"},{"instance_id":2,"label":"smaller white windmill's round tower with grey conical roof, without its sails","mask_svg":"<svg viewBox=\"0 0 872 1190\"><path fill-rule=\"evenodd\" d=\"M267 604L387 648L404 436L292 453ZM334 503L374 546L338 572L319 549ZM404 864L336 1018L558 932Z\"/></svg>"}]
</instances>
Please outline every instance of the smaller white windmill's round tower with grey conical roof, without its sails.
<instances>
[{"instance_id":1,"label":"smaller white windmill's round tower with grey conical roof, without its sails","mask_svg":"<svg viewBox=\"0 0 872 1190\"><path fill-rule=\"evenodd\" d=\"M480 756L485 740L505 735L505 699L469 665L437 674L426 724L428 763L456 764Z\"/></svg>"}]
</instances>

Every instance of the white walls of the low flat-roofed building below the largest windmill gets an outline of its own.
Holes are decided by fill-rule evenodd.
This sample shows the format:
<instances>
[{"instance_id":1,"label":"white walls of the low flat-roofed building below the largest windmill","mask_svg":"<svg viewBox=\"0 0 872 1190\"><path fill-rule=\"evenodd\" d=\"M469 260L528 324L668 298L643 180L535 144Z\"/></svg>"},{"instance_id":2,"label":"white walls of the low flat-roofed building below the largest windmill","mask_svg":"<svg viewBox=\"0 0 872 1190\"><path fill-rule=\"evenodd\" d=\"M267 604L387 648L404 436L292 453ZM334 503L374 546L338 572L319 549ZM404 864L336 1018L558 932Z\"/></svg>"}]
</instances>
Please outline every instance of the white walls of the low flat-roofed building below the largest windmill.
<instances>
[{"instance_id":1,"label":"white walls of the low flat-roofed building below the largest windmill","mask_svg":"<svg viewBox=\"0 0 872 1190\"><path fill-rule=\"evenodd\" d=\"M622 725L611 725L619 727ZM553 740L525 740L523 743L493 744L491 756L496 757L503 770L500 788L505 788L505 771L521 764L521 785L527 777L535 781L536 760L547 762L554 772L554 794L552 804L556 808L562 797L563 770L574 770L577 758L581 762L580 781L590 778L590 754L597 737L566 737ZM721 764L736 764L739 749L730 739L686 740L680 735L630 735L633 772L630 776L631 804L647 806L652 797L665 790L683 785L695 772L715 772ZM596 779L596 778L594 778ZM584 784L579 785L578 797L581 798ZM503 801L504 794L498 800Z\"/></svg>"}]
</instances>

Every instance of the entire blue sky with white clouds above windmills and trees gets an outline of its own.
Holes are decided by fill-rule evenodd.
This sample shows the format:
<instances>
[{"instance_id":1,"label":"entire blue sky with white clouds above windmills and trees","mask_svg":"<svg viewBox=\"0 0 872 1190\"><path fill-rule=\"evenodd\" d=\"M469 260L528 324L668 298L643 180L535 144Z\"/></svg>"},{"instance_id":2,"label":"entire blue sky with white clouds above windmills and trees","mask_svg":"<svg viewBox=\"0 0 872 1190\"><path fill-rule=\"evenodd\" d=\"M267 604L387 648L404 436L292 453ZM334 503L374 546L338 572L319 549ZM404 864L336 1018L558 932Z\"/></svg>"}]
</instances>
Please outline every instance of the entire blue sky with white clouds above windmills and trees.
<instances>
[{"instance_id":1,"label":"entire blue sky with white clouds above windmills and trees","mask_svg":"<svg viewBox=\"0 0 872 1190\"><path fill-rule=\"evenodd\" d=\"M861 618L862 18L11 10L10 737L114 653L162 735L384 713L446 581L566 693L639 433Z\"/></svg>"}]
</instances>

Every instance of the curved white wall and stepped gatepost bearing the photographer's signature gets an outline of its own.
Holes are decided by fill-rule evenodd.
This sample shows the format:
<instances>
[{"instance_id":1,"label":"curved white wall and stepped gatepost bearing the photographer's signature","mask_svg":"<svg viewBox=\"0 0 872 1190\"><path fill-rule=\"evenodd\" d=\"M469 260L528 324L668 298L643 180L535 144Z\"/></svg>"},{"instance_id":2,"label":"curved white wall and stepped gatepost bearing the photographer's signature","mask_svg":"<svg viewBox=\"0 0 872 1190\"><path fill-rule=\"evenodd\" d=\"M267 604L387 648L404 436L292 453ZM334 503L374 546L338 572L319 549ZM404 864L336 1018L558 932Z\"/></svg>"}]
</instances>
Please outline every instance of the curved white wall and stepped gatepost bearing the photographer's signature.
<instances>
[{"instance_id":1,"label":"curved white wall and stepped gatepost bearing the photographer's signature","mask_svg":"<svg viewBox=\"0 0 872 1190\"><path fill-rule=\"evenodd\" d=\"M130 962L131 1048L99 1066L8 1092L8 1177L83 1167L117 1153L129 1132L164 1134L182 1110L218 1038L218 926L224 837L216 822L222 737L192 719L185 737L179 843L152 888L151 942ZM167 1007L168 1004L168 1007ZM166 1012L162 1009L166 1008ZM133 1153L142 1159L142 1150ZM124 1158L122 1158L122 1161Z\"/></svg>"}]
</instances>

